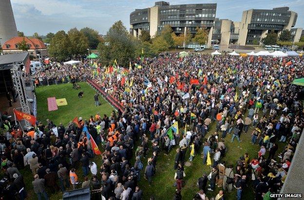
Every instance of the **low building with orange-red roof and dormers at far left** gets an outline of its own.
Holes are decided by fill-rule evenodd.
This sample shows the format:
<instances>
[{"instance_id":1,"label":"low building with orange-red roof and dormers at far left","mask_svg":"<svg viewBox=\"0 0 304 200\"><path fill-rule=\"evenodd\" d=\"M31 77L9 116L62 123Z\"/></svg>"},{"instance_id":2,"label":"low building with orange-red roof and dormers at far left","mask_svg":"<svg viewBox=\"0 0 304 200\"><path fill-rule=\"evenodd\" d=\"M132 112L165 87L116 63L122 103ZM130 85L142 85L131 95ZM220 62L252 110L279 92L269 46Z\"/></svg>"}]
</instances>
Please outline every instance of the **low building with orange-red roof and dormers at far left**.
<instances>
[{"instance_id":1,"label":"low building with orange-red roof and dormers at far left","mask_svg":"<svg viewBox=\"0 0 304 200\"><path fill-rule=\"evenodd\" d=\"M33 56L37 56L39 54L41 57L47 55L47 49L43 41L37 38L28 38L28 37L12 37L7 40L2 45L3 54L15 54L20 53L22 50L19 49L18 43L22 40L26 41L27 46L29 47L28 53Z\"/></svg>"}]
</instances>

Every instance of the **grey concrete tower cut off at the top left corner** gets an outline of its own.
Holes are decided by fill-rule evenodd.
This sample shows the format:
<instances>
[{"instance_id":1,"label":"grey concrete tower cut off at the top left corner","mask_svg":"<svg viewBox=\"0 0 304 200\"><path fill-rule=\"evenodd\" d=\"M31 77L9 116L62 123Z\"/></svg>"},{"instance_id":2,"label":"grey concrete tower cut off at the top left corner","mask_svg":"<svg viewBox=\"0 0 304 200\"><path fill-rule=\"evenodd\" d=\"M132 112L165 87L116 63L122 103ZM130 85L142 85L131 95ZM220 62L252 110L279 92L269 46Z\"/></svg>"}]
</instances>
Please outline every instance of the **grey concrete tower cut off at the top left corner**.
<instances>
[{"instance_id":1,"label":"grey concrete tower cut off at the top left corner","mask_svg":"<svg viewBox=\"0 0 304 200\"><path fill-rule=\"evenodd\" d=\"M10 0L0 0L0 42L3 45L17 36L17 27Z\"/></svg>"}]
</instances>

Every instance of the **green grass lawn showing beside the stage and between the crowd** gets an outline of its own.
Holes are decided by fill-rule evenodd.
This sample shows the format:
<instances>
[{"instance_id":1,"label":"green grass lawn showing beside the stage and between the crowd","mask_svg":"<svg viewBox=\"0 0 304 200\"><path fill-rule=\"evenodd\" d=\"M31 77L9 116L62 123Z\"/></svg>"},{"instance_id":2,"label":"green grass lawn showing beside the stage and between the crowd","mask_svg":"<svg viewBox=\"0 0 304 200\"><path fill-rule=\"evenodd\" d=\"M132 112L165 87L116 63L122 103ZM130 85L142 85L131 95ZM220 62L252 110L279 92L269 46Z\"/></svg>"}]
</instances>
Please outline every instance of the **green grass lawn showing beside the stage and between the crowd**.
<instances>
[{"instance_id":1,"label":"green grass lawn showing beside the stage and between the crowd","mask_svg":"<svg viewBox=\"0 0 304 200\"><path fill-rule=\"evenodd\" d=\"M96 112L99 112L100 114L109 114L113 110L113 108L105 100L101 101L102 106L95 107L93 97L95 91L87 83L79 83L79 85L81 86L81 90L85 91L85 96L82 99L77 98L78 91L73 90L71 84L39 87L36 90L38 100L38 120L45 123L46 119L50 119L53 120L56 125L60 122L62 122L64 125L67 125L75 116L82 116L84 119L88 119L90 115L95 115ZM53 96L55 96L56 98L66 98L68 105L60 106L58 107L58 110L49 112L47 110L47 97ZM215 122L213 122L213 124L211 125L210 131L206 137L208 137L214 131ZM244 155L245 153L249 154L250 159L253 159L257 156L257 152L259 151L260 147L257 145L251 145L249 143L251 141L251 131L252 129L250 128L247 134L242 133L241 140L243 140L243 142L241 143L238 143L236 139L233 143L230 143L231 135L227 135L225 144L228 148L228 152L226 156L222 158L222 160L226 162L226 166L228 166L229 164L233 164L235 169L236 161L240 156ZM151 146L151 144L149 145ZM284 145L280 145L280 148L277 152L280 152L283 146ZM173 187L175 173L175 171L173 170L175 149L176 147L171 149L171 152L168 156L164 155L163 152L159 154L156 164L156 175L152 178L152 186L149 186L148 181L143 178L142 171L139 186L143 190L144 200L149 200L151 196L154 196L155 200L170 200L173 198L175 193L175 187ZM202 147L198 154L194 157L192 165L189 167L185 166L186 177L184 178L184 180L186 184L182 190L182 197L184 200L191 200L193 198L196 192L198 192L198 186L196 185L197 179L200 178L204 172L206 174L209 174L210 172L210 166L202 164L203 160L201 158L201 152ZM148 155L152 155L151 150L149 150ZM147 156L146 159L143 160L144 167L147 164L147 158L149 156ZM268 156L268 153L266 153L266 156ZM211 158L212 157L213 155L211 155ZM185 161L188 161L188 159L189 151L186 154ZM95 156L94 162L99 168L101 164L100 157ZM132 164L134 163L134 156L131 162ZM78 179L80 179L80 181L83 181L81 168L78 167L76 172L78 174ZM21 173L25 177L26 189L30 195L29 199L37 199L37 196L33 191L33 178L29 167L27 166L25 169L21 170ZM216 189L213 192L206 191L207 197L215 197L220 189L222 188L218 188L216 186ZM48 194L51 200L58 200L62 198L61 192L51 194L51 192L48 191ZM235 200L236 190L233 189L233 192L230 194L225 193L225 199ZM250 184L244 191L243 199L254 199L253 189Z\"/></svg>"}]
</instances>

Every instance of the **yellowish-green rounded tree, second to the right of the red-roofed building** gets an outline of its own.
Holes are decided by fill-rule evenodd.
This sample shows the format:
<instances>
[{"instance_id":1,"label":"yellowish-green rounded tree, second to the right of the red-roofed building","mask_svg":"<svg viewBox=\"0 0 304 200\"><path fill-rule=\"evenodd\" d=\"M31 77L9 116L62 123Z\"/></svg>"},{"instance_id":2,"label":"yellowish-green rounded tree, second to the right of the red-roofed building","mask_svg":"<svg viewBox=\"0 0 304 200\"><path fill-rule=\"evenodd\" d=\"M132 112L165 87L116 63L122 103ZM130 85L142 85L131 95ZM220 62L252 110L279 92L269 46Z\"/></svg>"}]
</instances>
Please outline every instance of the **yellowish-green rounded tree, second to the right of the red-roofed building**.
<instances>
[{"instance_id":1,"label":"yellowish-green rounded tree, second to the right of the red-roofed building","mask_svg":"<svg viewBox=\"0 0 304 200\"><path fill-rule=\"evenodd\" d=\"M68 31L68 36L71 42L72 55L83 55L87 52L89 48L88 38L82 32L73 28Z\"/></svg>"}]
</instances>

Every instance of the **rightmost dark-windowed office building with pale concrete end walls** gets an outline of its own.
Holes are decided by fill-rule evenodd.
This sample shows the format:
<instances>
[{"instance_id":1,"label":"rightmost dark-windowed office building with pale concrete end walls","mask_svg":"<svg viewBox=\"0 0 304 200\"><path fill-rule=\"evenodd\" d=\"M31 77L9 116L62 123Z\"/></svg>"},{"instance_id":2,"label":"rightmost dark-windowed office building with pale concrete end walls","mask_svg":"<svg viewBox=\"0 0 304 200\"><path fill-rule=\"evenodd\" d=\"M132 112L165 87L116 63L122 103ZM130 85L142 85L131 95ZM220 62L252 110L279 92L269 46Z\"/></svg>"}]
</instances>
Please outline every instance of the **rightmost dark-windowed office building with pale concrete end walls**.
<instances>
[{"instance_id":1,"label":"rightmost dark-windowed office building with pale concrete end walls","mask_svg":"<svg viewBox=\"0 0 304 200\"><path fill-rule=\"evenodd\" d=\"M246 10L243 12L237 43L240 45L261 43L261 39L271 30L278 35L283 30L290 30L295 26L297 18L298 14L289 11L289 7Z\"/></svg>"}]
</instances>

